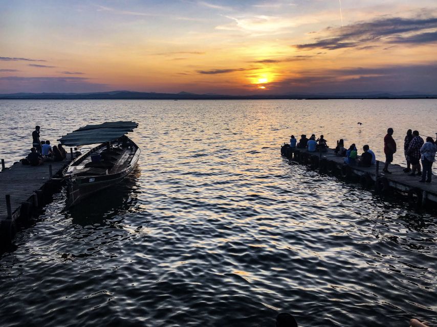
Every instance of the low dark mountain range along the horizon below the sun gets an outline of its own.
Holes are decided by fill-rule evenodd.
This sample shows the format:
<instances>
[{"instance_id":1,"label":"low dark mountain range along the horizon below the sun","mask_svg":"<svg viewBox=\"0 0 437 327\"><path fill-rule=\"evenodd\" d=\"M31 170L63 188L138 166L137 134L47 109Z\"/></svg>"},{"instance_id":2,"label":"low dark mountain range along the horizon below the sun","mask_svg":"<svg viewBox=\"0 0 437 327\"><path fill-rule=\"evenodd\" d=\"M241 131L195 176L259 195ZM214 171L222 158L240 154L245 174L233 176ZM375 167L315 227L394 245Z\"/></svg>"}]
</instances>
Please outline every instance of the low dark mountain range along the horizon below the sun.
<instances>
[{"instance_id":1,"label":"low dark mountain range along the horizon below the sun","mask_svg":"<svg viewBox=\"0 0 437 327\"><path fill-rule=\"evenodd\" d=\"M334 94L287 94L228 96L220 94L193 94L189 92L156 93L111 91L93 93L13 93L0 94L0 99L55 99L55 100L250 100L250 99L437 99L437 95L417 92L347 92Z\"/></svg>"}]
</instances>

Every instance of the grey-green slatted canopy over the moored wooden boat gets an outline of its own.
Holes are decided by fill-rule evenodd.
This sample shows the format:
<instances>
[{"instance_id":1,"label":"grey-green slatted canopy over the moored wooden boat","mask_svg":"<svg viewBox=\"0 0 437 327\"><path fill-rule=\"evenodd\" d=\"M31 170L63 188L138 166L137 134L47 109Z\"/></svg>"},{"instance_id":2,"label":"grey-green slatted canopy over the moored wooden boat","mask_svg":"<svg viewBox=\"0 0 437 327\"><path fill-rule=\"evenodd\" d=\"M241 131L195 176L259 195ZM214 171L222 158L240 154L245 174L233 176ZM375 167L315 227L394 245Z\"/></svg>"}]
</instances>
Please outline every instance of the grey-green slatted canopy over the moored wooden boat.
<instances>
[{"instance_id":1,"label":"grey-green slatted canopy over the moored wooden boat","mask_svg":"<svg viewBox=\"0 0 437 327\"><path fill-rule=\"evenodd\" d=\"M58 141L68 147L111 142L127 132L132 132L136 127L138 124L135 122L106 122L99 125L86 125L62 136Z\"/></svg>"}]
</instances>

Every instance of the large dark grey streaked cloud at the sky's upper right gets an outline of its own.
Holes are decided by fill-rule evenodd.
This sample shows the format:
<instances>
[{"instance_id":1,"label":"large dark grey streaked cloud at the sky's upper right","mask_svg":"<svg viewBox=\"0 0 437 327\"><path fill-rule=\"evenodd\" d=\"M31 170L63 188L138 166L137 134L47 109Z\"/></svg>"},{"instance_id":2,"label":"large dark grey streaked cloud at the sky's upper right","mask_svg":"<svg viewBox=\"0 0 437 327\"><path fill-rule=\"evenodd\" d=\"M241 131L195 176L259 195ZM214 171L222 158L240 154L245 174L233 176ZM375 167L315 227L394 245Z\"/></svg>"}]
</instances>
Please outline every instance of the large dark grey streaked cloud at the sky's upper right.
<instances>
[{"instance_id":1,"label":"large dark grey streaked cloud at the sky's upper right","mask_svg":"<svg viewBox=\"0 0 437 327\"><path fill-rule=\"evenodd\" d=\"M435 32L425 30L437 27L437 17L417 18L378 18L368 22L358 22L342 28L327 28L329 36L315 42L294 45L297 49L336 50L363 46L363 43L383 41L389 43L435 42ZM407 36L402 34L408 33ZM410 35L414 33L413 35Z\"/></svg>"}]
</instances>

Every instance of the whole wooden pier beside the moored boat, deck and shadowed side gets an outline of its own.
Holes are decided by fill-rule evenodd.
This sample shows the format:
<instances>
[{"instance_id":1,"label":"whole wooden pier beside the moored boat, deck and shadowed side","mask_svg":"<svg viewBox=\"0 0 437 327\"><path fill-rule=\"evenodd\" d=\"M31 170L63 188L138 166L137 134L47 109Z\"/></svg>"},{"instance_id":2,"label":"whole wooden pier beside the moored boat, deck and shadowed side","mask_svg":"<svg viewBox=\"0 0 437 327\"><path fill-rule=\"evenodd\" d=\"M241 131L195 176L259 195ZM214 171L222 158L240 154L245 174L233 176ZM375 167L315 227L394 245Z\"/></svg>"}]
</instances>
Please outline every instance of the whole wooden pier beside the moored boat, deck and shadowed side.
<instances>
[{"instance_id":1,"label":"whole wooden pier beside the moored boat, deck and shadowed side","mask_svg":"<svg viewBox=\"0 0 437 327\"><path fill-rule=\"evenodd\" d=\"M45 197L53 194L62 169L70 162L70 155L62 161L44 162L41 166L16 163L5 168L2 159L0 173L0 245L9 244L17 222L30 220L36 208L45 204Z\"/></svg>"}]
</instances>

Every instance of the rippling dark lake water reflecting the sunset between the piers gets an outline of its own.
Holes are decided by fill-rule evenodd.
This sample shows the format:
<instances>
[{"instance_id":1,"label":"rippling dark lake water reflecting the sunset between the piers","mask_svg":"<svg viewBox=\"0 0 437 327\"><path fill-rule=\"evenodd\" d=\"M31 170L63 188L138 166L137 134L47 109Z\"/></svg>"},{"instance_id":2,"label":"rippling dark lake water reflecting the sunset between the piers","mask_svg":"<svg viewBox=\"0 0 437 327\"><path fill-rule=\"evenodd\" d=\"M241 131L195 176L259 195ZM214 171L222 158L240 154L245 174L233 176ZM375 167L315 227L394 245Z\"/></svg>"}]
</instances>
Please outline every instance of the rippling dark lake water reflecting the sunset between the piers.
<instances>
[{"instance_id":1,"label":"rippling dark lake water reflecting the sunset between the piers","mask_svg":"<svg viewBox=\"0 0 437 327\"><path fill-rule=\"evenodd\" d=\"M315 133L382 159L393 127L404 164L406 130L435 137L436 113L436 100L2 100L8 166L35 125L54 144L133 120L142 149L128 180L72 209L61 189L0 254L2 326L437 324L435 213L279 151Z\"/></svg>"}]
</instances>

